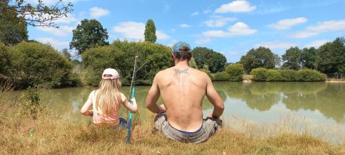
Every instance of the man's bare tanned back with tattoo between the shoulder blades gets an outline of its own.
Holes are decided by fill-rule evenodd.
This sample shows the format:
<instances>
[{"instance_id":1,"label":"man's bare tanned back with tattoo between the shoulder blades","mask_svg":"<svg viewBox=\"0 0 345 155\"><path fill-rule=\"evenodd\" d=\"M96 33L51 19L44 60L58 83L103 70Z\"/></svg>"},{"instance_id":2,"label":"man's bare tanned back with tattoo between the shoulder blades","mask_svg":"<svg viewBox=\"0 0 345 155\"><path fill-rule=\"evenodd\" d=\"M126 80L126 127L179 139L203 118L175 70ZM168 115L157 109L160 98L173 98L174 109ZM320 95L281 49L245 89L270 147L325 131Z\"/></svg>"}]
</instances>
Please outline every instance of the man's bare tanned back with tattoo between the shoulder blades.
<instances>
[{"instance_id":1,"label":"man's bare tanned back with tattoo between the shoulder blades","mask_svg":"<svg viewBox=\"0 0 345 155\"><path fill-rule=\"evenodd\" d=\"M168 68L155 78L166 108L168 123L177 130L195 132L202 125L201 103L207 74L193 68Z\"/></svg>"}]
</instances>

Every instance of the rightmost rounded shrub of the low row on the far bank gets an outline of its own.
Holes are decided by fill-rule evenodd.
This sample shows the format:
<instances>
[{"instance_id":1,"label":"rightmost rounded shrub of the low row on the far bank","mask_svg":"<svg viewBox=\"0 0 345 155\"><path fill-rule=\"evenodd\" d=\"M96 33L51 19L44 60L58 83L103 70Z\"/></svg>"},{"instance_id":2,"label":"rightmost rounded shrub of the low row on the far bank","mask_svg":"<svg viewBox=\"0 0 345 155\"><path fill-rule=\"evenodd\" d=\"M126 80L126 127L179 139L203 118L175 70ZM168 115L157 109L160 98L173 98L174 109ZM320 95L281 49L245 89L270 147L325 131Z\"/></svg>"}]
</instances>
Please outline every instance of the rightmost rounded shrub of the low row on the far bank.
<instances>
[{"instance_id":1,"label":"rightmost rounded shrub of the low row on the far bank","mask_svg":"<svg viewBox=\"0 0 345 155\"><path fill-rule=\"evenodd\" d=\"M324 81L326 75L315 70L302 69L297 71L299 81Z\"/></svg>"}]
</instances>

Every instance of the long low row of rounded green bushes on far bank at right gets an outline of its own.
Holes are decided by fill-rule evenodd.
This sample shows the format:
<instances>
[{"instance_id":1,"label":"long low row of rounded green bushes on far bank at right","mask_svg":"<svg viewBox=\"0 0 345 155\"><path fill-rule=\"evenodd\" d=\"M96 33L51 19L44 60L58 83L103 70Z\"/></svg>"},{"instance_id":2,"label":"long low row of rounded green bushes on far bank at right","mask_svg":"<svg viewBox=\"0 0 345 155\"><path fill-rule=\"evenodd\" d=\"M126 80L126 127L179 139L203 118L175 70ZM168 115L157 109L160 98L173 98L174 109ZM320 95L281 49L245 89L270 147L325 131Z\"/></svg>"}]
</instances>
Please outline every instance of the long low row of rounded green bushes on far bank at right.
<instances>
[{"instance_id":1,"label":"long low row of rounded green bushes on far bank at right","mask_svg":"<svg viewBox=\"0 0 345 155\"><path fill-rule=\"evenodd\" d=\"M315 70L267 70L255 68L250 74L254 81L324 81L326 75Z\"/></svg>"}]
</instances>

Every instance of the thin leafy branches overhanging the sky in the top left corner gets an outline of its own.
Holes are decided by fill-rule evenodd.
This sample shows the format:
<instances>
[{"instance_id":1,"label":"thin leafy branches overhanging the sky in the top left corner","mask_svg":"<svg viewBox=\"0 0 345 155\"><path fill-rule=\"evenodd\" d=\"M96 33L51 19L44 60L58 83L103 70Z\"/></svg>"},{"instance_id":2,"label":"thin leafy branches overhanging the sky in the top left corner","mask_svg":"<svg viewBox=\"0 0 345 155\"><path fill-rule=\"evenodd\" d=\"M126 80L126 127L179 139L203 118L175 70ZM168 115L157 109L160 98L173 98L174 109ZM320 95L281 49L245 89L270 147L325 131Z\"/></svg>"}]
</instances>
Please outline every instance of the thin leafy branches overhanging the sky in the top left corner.
<instances>
[{"instance_id":1,"label":"thin leafy branches overhanging the sky in the top left corner","mask_svg":"<svg viewBox=\"0 0 345 155\"><path fill-rule=\"evenodd\" d=\"M21 22L32 26L57 27L55 20L61 17L67 17L72 11L72 3L64 3L63 0L57 1L52 6L44 4L46 0L1 0L1 12L16 12ZM12 20L0 13L0 19Z\"/></svg>"}]
</instances>

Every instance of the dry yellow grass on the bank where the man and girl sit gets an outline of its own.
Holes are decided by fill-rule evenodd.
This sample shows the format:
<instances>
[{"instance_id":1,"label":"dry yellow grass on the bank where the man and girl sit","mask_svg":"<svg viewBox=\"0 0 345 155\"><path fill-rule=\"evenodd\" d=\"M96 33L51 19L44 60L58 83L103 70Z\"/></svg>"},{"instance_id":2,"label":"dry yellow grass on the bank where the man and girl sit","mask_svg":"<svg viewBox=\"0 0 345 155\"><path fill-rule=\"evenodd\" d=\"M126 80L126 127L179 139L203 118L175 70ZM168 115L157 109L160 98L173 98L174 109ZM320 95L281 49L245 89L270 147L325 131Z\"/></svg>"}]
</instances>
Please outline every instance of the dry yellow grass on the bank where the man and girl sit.
<instances>
[{"instance_id":1,"label":"dry yellow grass on the bank where the man and girl sit","mask_svg":"<svg viewBox=\"0 0 345 155\"><path fill-rule=\"evenodd\" d=\"M0 90L1 91L1 90ZM5 90L4 92L11 90ZM6 95L3 95L3 97ZM0 154L345 154L345 143L331 144L286 121L257 126L246 121L226 125L206 143L185 144L152 133L153 122L135 122L131 143L126 130L96 128L91 121L39 114L19 116L17 104L0 100ZM150 114L150 118L154 118ZM29 131L34 134L30 136ZM273 132L276 131L276 132ZM257 133L257 134L254 134Z\"/></svg>"}]
</instances>

